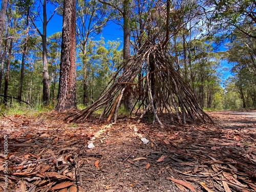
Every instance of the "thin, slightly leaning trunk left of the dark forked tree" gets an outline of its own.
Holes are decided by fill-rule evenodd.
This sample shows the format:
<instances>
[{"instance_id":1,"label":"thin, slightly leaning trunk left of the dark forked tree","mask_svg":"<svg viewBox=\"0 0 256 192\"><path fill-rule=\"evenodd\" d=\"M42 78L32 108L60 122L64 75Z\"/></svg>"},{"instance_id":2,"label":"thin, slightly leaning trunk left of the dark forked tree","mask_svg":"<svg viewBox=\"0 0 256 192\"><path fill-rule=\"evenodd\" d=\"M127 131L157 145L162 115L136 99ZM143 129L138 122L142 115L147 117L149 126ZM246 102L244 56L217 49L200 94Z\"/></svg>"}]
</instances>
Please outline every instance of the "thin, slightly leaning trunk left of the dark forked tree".
<instances>
[{"instance_id":1,"label":"thin, slightly leaning trunk left of the dark forked tree","mask_svg":"<svg viewBox=\"0 0 256 192\"><path fill-rule=\"evenodd\" d=\"M28 45L28 28L29 28L29 8L27 10L27 18L26 18L26 38L25 43L23 47L23 53L22 53L22 68L20 69L20 80L19 80L19 89L18 89L18 102L22 101L22 87L23 87L23 79L24 79L24 67L25 67L25 57L26 57L26 51L27 51L27 45Z\"/></svg>"}]
</instances>

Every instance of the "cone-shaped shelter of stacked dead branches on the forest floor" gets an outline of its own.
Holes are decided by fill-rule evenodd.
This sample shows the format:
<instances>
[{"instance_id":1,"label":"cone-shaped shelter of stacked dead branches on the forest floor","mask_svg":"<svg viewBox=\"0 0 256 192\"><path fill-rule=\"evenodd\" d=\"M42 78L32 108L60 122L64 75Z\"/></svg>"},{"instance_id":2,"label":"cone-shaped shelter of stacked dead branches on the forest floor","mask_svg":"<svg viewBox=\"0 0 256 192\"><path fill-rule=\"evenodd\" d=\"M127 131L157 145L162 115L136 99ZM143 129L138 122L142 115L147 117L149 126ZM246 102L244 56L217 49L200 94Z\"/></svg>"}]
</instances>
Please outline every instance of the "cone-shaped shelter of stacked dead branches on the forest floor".
<instances>
[{"instance_id":1,"label":"cone-shaped shelter of stacked dead branches on the forest floor","mask_svg":"<svg viewBox=\"0 0 256 192\"><path fill-rule=\"evenodd\" d=\"M108 116L107 121L110 121L114 116L116 122L123 93L131 86L139 85L138 90L141 91L135 100L135 105L138 106L136 114L140 109L143 112L138 121L147 113L153 116L153 123L157 121L163 126L158 114L165 113L173 122L186 123L187 120L200 119L213 123L199 106L189 84L176 70L174 62L172 55L161 44L145 44L129 61L129 69L121 74L117 71L98 99L88 108L67 117L68 121L84 121L93 112L103 108L100 118ZM135 83L139 73L141 78Z\"/></svg>"}]
</instances>

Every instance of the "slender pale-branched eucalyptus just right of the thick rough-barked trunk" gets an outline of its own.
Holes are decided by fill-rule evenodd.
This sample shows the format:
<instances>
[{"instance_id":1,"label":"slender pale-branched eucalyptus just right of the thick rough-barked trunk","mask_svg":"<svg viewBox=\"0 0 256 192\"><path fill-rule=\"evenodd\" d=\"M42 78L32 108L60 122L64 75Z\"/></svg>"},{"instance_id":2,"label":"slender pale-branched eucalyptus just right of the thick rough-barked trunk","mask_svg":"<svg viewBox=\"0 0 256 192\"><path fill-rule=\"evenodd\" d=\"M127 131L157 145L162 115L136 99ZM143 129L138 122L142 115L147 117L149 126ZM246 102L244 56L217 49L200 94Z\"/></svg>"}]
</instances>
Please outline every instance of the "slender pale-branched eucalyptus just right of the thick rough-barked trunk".
<instances>
[{"instance_id":1,"label":"slender pale-branched eucalyptus just right of the thick rough-barked trunk","mask_svg":"<svg viewBox=\"0 0 256 192\"><path fill-rule=\"evenodd\" d=\"M96 0L78 0L77 6L77 38L79 57L83 68L83 104L88 104L87 79L87 44L89 39L98 35L110 19L110 12L106 5Z\"/></svg>"}]
</instances>

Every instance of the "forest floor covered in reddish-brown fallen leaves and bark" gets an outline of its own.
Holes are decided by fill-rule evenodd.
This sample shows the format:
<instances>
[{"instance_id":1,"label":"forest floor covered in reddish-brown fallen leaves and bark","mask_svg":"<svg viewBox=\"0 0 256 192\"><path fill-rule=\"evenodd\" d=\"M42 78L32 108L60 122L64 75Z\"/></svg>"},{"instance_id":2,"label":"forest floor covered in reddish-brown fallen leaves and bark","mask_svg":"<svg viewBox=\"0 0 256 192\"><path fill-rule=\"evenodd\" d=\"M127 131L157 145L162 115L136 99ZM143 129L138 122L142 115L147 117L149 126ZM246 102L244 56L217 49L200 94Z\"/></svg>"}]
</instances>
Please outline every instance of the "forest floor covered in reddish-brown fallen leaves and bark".
<instances>
[{"instance_id":1,"label":"forest floor covered in reddish-brown fallen leaves and bark","mask_svg":"<svg viewBox=\"0 0 256 192\"><path fill-rule=\"evenodd\" d=\"M70 113L0 117L0 191L256 191L255 110L163 128L135 117L66 123Z\"/></svg>"}]
</instances>

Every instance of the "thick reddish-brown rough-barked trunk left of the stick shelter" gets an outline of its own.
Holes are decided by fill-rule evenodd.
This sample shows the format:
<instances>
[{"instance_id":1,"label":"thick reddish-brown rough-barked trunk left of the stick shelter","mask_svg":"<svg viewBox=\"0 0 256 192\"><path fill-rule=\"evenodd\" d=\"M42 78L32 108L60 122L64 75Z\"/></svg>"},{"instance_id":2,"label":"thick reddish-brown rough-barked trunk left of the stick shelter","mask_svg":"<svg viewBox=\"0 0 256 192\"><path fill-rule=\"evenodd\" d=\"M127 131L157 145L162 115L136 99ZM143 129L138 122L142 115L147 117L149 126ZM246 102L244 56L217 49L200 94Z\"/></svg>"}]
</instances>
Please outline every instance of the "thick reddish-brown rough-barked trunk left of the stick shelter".
<instances>
[{"instance_id":1,"label":"thick reddish-brown rough-barked trunk left of the stick shelter","mask_svg":"<svg viewBox=\"0 0 256 192\"><path fill-rule=\"evenodd\" d=\"M63 2L58 103L55 110L76 108L76 0Z\"/></svg>"}]
</instances>

